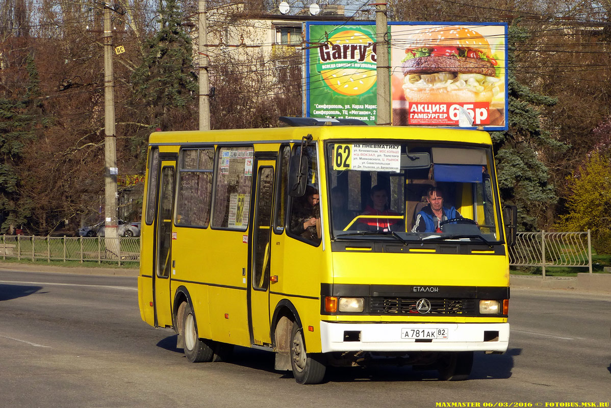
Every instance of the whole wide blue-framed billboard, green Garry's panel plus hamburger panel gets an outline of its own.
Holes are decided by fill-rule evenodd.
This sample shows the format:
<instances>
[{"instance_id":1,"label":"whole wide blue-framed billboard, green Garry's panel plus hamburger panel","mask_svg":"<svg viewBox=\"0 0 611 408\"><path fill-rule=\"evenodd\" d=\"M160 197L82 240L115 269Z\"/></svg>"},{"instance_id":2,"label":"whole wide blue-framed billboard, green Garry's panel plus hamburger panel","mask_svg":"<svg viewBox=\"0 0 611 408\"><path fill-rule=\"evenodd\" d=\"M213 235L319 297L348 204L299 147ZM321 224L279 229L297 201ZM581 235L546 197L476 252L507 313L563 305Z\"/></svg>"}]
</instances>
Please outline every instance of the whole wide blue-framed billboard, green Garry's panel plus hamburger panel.
<instances>
[{"instance_id":1,"label":"whole wide blue-framed billboard, green Garry's panel plus hamburger panel","mask_svg":"<svg viewBox=\"0 0 611 408\"><path fill-rule=\"evenodd\" d=\"M307 23L305 116L376 123L375 26ZM389 23L392 124L507 129L507 24Z\"/></svg>"}]
</instances>

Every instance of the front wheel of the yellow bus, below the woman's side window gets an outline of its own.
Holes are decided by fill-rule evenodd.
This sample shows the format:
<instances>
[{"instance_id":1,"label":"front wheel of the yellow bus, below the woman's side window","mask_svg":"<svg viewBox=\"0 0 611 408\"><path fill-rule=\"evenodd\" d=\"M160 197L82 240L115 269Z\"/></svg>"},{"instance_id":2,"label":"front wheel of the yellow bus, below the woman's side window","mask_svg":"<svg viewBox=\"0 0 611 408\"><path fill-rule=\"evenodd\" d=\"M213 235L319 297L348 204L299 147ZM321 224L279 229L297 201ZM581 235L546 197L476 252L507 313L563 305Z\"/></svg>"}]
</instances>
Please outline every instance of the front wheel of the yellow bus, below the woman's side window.
<instances>
[{"instance_id":1,"label":"front wheel of the yellow bus, below the woman's side window","mask_svg":"<svg viewBox=\"0 0 611 408\"><path fill-rule=\"evenodd\" d=\"M291 329L291 367L298 384L319 384L323 381L326 365L324 354L306 353L301 327L293 322Z\"/></svg>"}]
</instances>

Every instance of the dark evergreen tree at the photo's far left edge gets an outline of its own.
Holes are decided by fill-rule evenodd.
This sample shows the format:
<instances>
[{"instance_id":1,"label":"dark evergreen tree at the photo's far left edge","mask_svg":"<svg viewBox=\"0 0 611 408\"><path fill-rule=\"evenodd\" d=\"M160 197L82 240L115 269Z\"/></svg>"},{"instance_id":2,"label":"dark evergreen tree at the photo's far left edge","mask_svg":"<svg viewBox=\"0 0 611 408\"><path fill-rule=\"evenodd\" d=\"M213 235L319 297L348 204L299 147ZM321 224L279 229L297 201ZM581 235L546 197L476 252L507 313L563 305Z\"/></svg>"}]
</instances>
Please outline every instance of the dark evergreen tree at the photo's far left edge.
<instances>
[{"instance_id":1,"label":"dark evergreen tree at the photo's far left edge","mask_svg":"<svg viewBox=\"0 0 611 408\"><path fill-rule=\"evenodd\" d=\"M33 198L20 196L21 180L16 169L24 145L36 139L37 128L43 125L38 71L31 54L25 62L27 82L23 95L0 98L0 212L3 216L0 228L9 233L24 224L30 215Z\"/></svg>"}]
</instances>

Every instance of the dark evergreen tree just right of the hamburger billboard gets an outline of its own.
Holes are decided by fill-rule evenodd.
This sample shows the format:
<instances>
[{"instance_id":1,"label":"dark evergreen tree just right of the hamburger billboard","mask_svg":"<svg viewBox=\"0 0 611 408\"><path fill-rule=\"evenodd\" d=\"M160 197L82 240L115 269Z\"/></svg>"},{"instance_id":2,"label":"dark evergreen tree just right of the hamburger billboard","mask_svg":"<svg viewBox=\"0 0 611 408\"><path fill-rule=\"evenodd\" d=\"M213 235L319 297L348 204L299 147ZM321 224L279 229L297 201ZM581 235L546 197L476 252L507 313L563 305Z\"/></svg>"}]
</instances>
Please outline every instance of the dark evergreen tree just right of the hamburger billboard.
<instances>
[{"instance_id":1,"label":"dark evergreen tree just right of the hamburger billboard","mask_svg":"<svg viewBox=\"0 0 611 408\"><path fill-rule=\"evenodd\" d=\"M529 35L521 27L509 27L509 129L491 136L501 199L518 206L519 225L529 231L537 228L538 218L558 200L543 159L551 151L565 151L567 146L541 126L537 107L553 106L556 100L532 92L516 79L514 51L527 38Z\"/></svg>"}]
</instances>

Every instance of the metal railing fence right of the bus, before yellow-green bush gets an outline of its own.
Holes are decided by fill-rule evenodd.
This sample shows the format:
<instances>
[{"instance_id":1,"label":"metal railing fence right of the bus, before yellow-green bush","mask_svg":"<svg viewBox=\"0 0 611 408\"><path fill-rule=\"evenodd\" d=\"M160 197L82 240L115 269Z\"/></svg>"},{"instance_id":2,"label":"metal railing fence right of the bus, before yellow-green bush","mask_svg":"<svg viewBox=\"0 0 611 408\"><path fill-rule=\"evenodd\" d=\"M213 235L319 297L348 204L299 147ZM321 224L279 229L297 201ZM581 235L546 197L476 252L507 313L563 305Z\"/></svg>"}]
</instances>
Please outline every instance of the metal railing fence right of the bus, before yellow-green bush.
<instances>
[{"instance_id":1,"label":"metal railing fence right of the bus, before yellow-green bush","mask_svg":"<svg viewBox=\"0 0 611 408\"><path fill-rule=\"evenodd\" d=\"M580 267L592 273L590 230L587 232L519 232L509 250L511 266Z\"/></svg>"}]
</instances>

